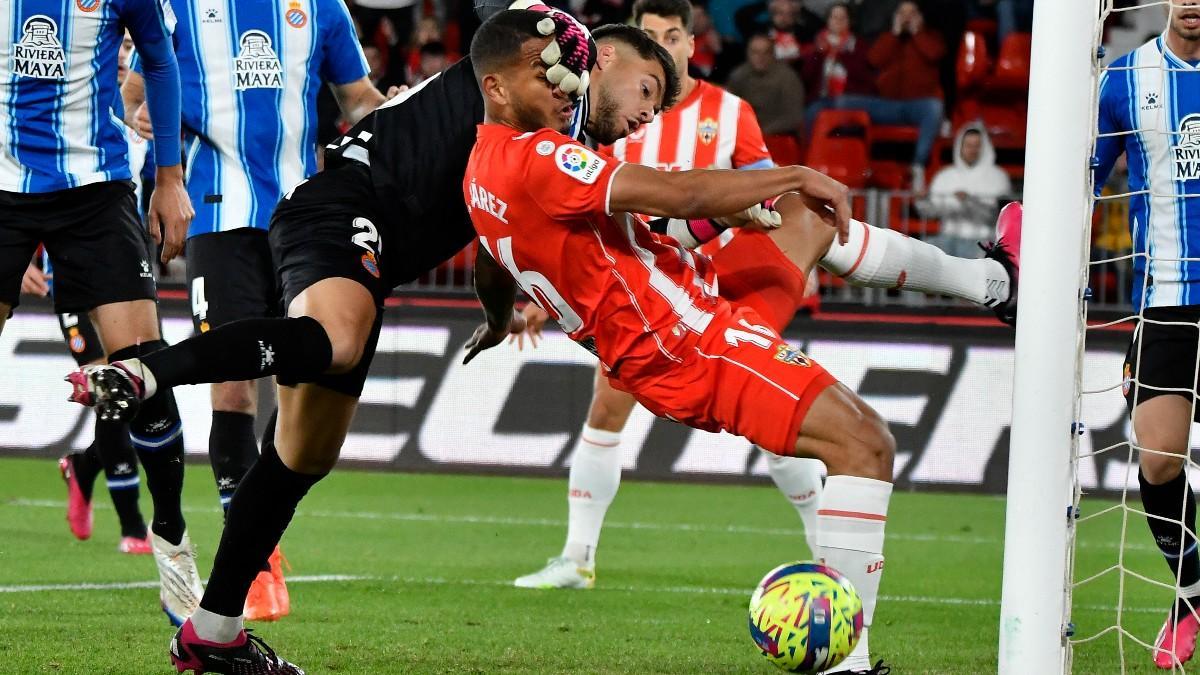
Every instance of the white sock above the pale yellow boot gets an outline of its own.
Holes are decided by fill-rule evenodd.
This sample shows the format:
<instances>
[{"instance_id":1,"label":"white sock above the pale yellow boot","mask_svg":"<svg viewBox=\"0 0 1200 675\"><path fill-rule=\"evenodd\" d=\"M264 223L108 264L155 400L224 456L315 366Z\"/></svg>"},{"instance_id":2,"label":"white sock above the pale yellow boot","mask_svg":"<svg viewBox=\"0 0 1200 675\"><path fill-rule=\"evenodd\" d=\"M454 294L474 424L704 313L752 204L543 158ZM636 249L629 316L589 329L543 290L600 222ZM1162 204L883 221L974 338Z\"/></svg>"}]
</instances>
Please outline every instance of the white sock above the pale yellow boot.
<instances>
[{"instance_id":1,"label":"white sock above the pale yellow boot","mask_svg":"<svg viewBox=\"0 0 1200 675\"><path fill-rule=\"evenodd\" d=\"M620 486L620 432L583 425L571 458L563 556L595 567L596 545L608 504Z\"/></svg>"}]
</instances>

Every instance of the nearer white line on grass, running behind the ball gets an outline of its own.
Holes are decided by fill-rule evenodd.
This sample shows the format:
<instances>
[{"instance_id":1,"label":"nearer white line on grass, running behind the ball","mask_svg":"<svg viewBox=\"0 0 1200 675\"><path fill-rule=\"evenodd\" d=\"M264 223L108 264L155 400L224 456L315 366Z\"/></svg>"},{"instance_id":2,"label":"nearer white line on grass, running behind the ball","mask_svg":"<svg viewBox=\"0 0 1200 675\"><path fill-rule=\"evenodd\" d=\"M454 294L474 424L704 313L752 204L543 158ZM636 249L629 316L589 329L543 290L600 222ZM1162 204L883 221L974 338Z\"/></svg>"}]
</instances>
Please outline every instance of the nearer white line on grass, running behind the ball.
<instances>
[{"instance_id":1,"label":"nearer white line on grass, running behind the ball","mask_svg":"<svg viewBox=\"0 0 1200 675\"><path fill-rule=\"evenodd\" d=\"M310 574L288 577L289 584L330 584L336 581L374 581L407 586L487 586L510 589L512 583L500 579L446 579L443 577L374 577L362 574ZM158 581L113 581L108 584L26 584L0 586L0 593L53 593L76 591L125 591L132 589L157 589ZM594 592L610 593L682 593L694 596L740 596L750 597L748 589L721 586L598 586ZM539 591L521 590L522 593ZM540 591L553 592L553 591ZM992 598L946 598L934 596L880 596L883 603L937 604L956 607L1000 607L1000 601ZM1076 605L1076 610L1115 611L1115 607L1087 604ZM1162 608L1126 607L1124 611L1139 614L1159 614Z\"/></svg>"}]
</instances>

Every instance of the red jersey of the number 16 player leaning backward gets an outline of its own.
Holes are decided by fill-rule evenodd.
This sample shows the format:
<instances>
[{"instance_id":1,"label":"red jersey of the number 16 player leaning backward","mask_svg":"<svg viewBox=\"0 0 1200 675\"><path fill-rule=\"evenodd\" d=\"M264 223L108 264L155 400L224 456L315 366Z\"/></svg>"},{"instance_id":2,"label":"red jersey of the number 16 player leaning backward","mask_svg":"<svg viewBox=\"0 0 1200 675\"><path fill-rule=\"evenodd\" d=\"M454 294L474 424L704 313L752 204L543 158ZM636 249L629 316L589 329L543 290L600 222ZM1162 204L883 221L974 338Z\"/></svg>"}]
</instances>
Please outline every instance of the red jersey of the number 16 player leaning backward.
<instances>
[{"instance_id":1,"label":"red jersey of the number 16 player leaning backward","mask_svg":"<svg viewBox=\"0 0 1200 675\"><path fill-rule=\"evenodd\" d=\"M571 339L646 374L678 363L720 301L708 258L610 213L622 166L554 131L485 124L463 198L480 243Z\"/></svg>"}]
</instances>

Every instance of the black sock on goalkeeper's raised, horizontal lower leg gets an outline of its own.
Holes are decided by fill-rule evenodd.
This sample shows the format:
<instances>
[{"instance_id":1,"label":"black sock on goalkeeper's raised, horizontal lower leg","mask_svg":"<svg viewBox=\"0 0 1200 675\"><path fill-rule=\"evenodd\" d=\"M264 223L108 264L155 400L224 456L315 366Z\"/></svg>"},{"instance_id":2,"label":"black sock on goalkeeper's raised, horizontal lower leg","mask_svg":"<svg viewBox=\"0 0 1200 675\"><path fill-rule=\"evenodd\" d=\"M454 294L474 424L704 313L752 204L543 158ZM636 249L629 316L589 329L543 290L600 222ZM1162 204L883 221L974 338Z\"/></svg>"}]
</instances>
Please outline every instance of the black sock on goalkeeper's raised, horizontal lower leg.
<instances>
[{"instance_id":1,"label":"black sock on goalkeeper's raised, horizontal lower leg","mask_svg":"<svg viewBox=\"0 0 1200 675\"><path fill-rule=\"evenodd\" d=\"M160 388L204 382L242 382L278 375L311 382L329 369L334 347L311 317L247 318L188 338L142 357Z\"/></svg>"}]
</instances>

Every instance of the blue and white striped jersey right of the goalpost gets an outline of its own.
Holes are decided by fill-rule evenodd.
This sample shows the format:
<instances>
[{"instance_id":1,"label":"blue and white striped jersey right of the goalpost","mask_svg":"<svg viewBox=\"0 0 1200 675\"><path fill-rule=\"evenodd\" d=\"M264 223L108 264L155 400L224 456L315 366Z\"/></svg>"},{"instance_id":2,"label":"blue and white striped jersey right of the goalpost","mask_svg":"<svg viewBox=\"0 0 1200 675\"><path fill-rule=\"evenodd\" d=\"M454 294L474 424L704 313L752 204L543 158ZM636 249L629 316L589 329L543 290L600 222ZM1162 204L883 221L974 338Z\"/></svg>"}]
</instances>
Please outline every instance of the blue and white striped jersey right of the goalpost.
<instances>
[{"instance_id":1,"label":"blue and white striped jersey right of the goalpost","mask_svg":"<svg viewBox=\"0 0 1200 675\"><path fill-rule=\"evenodd\" d=\"M1134 259L1134 306L1200 304L1200 62L1162 36L1121 56L1100 79L1098 126L1128 132L1097 138L1093 165L1099 189L1122 151L1129 163L1134 251L1150 257Z\"/></svg>"}]
</instances>

